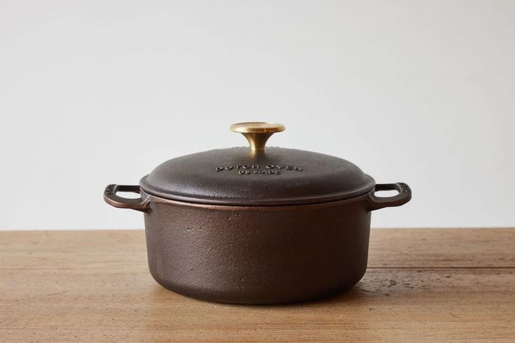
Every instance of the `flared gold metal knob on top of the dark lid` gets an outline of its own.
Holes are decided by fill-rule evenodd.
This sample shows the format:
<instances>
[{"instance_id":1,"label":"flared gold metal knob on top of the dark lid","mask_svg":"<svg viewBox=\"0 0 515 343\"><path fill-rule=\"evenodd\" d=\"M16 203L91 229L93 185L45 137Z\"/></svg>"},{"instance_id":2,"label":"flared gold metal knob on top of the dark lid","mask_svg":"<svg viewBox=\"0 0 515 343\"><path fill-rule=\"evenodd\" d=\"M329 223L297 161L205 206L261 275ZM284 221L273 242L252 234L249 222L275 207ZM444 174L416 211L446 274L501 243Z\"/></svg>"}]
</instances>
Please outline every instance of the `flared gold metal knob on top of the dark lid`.
<instances>
[{"instance_id":1,"label":"flared gold metal knob on top of the dark lid","mask_svg":"<svg viewBox=\"0 0 515 343\"><path fill-rule=\"evenodd\" d=\"M250 144L252 151L264 151L266 141L275 134L286 130L286 127L278 123L237 123L231 125L231 131L240 132L243 134Z\"/></svg>"}]
</instances>

